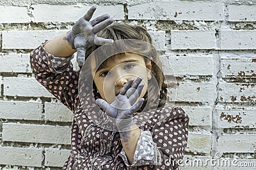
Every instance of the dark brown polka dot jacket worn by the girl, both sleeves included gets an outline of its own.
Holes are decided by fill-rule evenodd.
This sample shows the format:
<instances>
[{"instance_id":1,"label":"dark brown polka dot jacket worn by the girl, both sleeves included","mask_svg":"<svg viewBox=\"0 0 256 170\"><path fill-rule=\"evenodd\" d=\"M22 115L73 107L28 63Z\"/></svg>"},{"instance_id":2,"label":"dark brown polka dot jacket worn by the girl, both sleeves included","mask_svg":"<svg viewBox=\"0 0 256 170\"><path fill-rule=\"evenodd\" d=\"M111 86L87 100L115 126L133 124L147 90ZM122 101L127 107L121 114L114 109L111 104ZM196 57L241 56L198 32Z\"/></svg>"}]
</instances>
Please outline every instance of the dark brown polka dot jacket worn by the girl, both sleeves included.
<instances>
[{"instance_id":1,"label":"dark brown polka dot jacket worn by the girl, both sleeves included","mask_svg":"<svg viewBox=\"0 0 256 170\"><path fill-rule=\"evenodd\" d=\"M189 122L182 108L162 107L134 115L141 135L134 161L129 164L119 133L92 121L86 113L90 110L89 113L93 113L92 105L82 107L78 93L79 72L73 69L72 56L55 57L47 53L46 42L31 52L30 62L36 80L74 112L72 149L63 162L63 169L180 169L178 160L186 150ZM86 100L91 99L87 96ZM99 115L102 114L99 111Z\"/></svg>"}]
</instances>

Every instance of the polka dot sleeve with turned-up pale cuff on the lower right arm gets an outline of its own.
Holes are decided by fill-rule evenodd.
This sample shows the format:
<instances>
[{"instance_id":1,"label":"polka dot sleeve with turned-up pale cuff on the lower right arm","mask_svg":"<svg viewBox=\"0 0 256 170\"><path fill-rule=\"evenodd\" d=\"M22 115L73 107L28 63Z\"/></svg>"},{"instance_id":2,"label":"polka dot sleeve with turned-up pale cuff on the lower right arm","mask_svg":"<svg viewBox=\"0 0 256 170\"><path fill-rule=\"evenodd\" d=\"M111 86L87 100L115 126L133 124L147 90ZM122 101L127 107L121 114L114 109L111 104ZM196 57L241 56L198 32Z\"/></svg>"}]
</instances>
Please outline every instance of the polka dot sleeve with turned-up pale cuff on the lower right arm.
<instances>
[{"instance_id":1,"label":"polka dot sleeve with turned-up pale cuff on the lower right arm","mask_svg":"<svg viewBox=\"0 0 256 170\"><path fill-rule=\"evenodd\" d=\"M157 110L159 113L140 127L132 164L124 150L120 153L129 169L180 169L179 160L183 159L188 142L188 115L182 108Z\"/></svg>"}]
</instances>

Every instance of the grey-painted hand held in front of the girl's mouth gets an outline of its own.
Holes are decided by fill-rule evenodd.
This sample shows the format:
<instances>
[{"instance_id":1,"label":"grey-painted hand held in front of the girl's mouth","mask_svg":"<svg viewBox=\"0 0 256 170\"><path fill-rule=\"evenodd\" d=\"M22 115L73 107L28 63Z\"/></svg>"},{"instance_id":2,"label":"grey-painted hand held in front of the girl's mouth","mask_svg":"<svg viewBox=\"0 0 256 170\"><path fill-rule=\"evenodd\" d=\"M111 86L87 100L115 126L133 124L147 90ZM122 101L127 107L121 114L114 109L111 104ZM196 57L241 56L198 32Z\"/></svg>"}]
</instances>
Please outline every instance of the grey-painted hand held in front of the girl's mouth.
<instances>
[{"instance_id":1,"label":"grey-painted hand held in front of the girl's mouth","mask_svg":"<svg viewBox=\"0 0 256 170\"><path fill-rule=\"evenodd\" d=\"M96 100L96 103L108 116L116 118L115 125L120 132L130 130L130 127L134 125L132 113L138 111L143 104L143 98L138 101L144 87L144 83L141 81L142 78L138 77L134 83L132 83L133 79L125 83L115 101L111 104L103 99Z\"/></svg>"}]
</instances>

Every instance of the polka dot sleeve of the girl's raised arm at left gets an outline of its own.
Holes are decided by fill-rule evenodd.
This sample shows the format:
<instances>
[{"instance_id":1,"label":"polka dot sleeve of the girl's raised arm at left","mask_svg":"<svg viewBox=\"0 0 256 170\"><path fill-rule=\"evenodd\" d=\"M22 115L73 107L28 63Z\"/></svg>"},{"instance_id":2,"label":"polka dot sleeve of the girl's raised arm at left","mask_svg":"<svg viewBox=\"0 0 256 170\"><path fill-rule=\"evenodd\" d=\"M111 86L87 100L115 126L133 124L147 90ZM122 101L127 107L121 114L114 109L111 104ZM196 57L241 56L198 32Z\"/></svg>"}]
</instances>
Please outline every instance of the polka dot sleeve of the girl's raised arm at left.
<instances>
[{"instance_id":1,"label":"polka dot sleeve of the girl's raised arm at left","mask_svg":"<svg viewBox=\"0 0 256 170\"><path fill-rule=\"evenodd\" d=\"M79 73L73 70L69 57L56 57L45 51L44 45L30 53L32 73L36 80L71 111L77 104Z\"/></svg>"}]
</instances>

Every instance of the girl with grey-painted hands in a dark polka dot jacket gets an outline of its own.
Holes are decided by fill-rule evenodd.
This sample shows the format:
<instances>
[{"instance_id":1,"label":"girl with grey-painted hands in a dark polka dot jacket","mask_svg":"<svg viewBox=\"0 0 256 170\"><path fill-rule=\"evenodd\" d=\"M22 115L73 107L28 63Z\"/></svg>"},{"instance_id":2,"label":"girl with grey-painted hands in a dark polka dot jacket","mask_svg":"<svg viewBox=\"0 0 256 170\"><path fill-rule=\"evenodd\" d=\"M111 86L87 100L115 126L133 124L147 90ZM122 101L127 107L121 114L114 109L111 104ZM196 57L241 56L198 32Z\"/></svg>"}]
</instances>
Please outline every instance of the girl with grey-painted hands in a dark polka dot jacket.
<instances>
[{"instance_id":1,"label":"girl with grey-painted hands in a dark polka dot jacket","mask_svg":"<svg viewBox=\"0 0 256 170\"><path fill-rule=\"evenodd\" d=\"M89 22L94 11L31 52L36 80L74 112L63 169L179 169L189 119L181 108L164 107L166 84L150 35L110 25L108 15ZM70 62L76 50L79 72Z\"/></svg>"}]
</instances>

